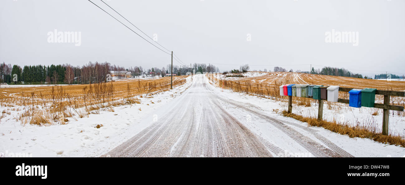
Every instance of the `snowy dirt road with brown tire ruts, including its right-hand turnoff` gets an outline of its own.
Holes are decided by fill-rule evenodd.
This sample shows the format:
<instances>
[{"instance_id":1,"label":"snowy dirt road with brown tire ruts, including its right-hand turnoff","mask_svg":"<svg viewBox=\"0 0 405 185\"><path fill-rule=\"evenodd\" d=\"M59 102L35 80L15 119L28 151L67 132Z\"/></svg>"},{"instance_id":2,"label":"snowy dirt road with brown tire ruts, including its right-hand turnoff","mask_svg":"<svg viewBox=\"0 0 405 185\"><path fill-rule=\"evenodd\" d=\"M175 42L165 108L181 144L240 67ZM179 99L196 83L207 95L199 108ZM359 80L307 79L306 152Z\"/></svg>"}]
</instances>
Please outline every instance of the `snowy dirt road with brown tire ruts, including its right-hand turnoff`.
<instances>
[{"instance_id":1,"label":"snowy dirt road with brown tire ruts, including its right-hand turnoff","mask_svg":"<svg viewBox=\"0 0 405 185\"><path fill-rule=\"evenodd\" d=\"M275 157L286 151L313 157L352 157L311 128L290 126L217 96L211 88L205 76L195 76L190 88L158 111L162 119L102 157ZM262 120L273 134L252 132L247 128L247 114Z\"/></svg>"}]
</instances>

